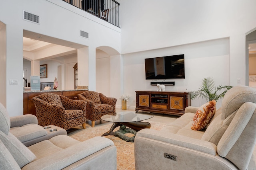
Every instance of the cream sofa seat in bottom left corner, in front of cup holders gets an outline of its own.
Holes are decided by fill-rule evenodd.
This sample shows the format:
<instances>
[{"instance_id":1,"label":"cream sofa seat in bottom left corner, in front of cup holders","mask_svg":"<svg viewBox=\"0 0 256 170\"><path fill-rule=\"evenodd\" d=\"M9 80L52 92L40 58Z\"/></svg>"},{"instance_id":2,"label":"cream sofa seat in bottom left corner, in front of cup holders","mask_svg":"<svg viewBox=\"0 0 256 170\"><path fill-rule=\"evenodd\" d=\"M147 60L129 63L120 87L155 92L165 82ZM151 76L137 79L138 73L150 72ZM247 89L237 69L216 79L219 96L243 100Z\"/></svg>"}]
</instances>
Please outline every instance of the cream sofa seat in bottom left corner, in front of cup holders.
<instances>
[{"instance_id":1,"label":"cream sofa seat in bottom left corner, in front of cup holders","mask_svg":"<svg viewBox=\"0 0 256 170\"><path fill-rule=\"evenodd\" d=\"M1 170L116 170L116 147L104 137L84 142L57 135L26 147L10 133L10 117L0 104Z\"/></svg>"}]
</instances>

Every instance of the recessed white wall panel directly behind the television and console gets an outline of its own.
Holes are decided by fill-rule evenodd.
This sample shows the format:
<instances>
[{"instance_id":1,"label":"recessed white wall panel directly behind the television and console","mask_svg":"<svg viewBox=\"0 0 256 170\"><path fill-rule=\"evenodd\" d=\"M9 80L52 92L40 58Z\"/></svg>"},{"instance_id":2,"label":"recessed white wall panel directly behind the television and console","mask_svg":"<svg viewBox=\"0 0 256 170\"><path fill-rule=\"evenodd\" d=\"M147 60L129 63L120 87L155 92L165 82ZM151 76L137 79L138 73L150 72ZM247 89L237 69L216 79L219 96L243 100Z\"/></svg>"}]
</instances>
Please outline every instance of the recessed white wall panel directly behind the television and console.
<instances>
[{"instance_id":1,"label":"recessed white wall panel directly behind the television and console","mask_svg":"<svg viewBox=\"0 0 256 170\"><path fill-rule=\"evenodd\" d=\"M230 84L228 38L126 54L123 55L124 94L130 96L130 108L136 106L136 90L157 90L156 86L150 86L150 82L155 80L145 78L144 59L178 54L185 56L185 79L158 80L175 82L175 86L166 86L166 91L198 90L202 84L201 80L207 77L214 78L216 86ZM192 106L200 106L205 102L193 100Z\"/></svg>"}]
</instances>

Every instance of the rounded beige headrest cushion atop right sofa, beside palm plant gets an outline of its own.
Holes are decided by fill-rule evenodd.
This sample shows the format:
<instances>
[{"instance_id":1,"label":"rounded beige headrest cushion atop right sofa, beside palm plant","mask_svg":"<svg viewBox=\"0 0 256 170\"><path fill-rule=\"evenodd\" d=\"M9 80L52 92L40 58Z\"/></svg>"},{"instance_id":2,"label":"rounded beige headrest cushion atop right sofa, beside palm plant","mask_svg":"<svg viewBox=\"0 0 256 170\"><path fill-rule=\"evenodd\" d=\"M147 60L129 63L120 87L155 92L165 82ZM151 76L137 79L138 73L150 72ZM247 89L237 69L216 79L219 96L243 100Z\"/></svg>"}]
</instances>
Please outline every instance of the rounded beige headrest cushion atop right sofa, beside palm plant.
<instances>
[{"instance_id":1,"label":"rounded beige headrest cushion atop right sofa, beside palm plant","mask_svg":"<svg viewBox=\"0 0 256 170\"><path fill-rule=\"evenodd\" d=\"M226 92L222 100L222 120L226 119L245 102L256 103L256 90L248 86L236 86Z\"/></svg>"}]
</instances>

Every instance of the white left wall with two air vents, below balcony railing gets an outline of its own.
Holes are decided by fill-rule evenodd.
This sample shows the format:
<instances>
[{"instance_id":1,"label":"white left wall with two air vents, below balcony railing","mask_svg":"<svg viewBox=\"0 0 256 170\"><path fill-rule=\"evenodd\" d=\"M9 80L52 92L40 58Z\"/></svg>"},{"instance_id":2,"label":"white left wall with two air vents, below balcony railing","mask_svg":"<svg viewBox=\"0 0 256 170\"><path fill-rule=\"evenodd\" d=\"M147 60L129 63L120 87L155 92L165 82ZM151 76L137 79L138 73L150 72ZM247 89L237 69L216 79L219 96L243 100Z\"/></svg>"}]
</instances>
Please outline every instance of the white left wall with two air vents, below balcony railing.
<instances>
[{"instance_id":1,"label":"white left wall with two air vents, below balcony railing","mask_svg":"<svg viewBox=\"0 0 256 170\"><path fill-rule=\"evenodd\" d=\"M23 20L23 10L40 16L40 24ZM1 101L6 101L6 109L10 116L23 114L23 30L88 47L92 46L94 51L100 46L109 46L120 51L120 28L62 0L4 1L0 6L0 21L6 25L7 54L4 80L6 98L5 96L0 98ZM80 30L88 32L89 38L80 37ZM95 53L91 54L89 53L89 64L91 64L91 57L95 61ZM4 56L0 57L3 59ZM92 61L92 64L95 67L95 62ZM95 69L91 71L92 74L88 75L89 85L95 89ZM18 85L9 85L7 83L9 79L17 79ZM16 107L12 107L14 103Z\"/></svg>"}]
</instances>

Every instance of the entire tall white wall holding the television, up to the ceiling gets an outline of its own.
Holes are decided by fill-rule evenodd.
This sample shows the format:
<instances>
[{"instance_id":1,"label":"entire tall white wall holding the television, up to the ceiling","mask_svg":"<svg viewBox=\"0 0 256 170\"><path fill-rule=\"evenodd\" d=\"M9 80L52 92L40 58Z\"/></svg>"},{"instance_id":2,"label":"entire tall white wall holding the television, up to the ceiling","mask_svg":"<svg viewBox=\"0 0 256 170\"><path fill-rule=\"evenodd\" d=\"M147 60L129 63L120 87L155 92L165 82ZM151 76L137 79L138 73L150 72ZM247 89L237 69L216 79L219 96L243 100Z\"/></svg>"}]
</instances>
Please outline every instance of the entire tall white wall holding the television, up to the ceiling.
<instances>
[{"instance_id":1,"label":"entire tall white wall holding the television, up to the ceiling","mask_svg":"<svg viewBox=\"0 0 256 170\"><path fill-rule=\"evenodd\" d=\"M256 1L119 2L123 93L131 96L131 107L135 90L156 90L145 80L144 58L185 54L186 78L175 80L175 86L166 87L168 91L198 90L201 79L208 76L216 85L246 84L245 36L256 28ZM192 106L202 103L193 100Z\"/></svg>"}]
</instances>

